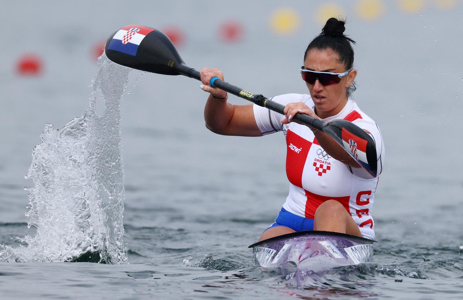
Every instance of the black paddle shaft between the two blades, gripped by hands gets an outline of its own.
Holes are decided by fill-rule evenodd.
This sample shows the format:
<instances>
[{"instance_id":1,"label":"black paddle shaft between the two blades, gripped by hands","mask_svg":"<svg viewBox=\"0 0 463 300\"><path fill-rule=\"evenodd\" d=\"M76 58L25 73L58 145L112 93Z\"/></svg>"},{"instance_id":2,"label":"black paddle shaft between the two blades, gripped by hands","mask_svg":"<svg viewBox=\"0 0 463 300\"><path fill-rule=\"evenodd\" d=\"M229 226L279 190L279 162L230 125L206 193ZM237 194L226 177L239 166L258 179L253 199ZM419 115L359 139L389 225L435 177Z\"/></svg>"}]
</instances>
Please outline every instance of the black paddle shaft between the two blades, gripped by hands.
<instances>
[{"instance_id":1,"label":"black paddle shaft between the two blades, gripped by hands","mask_svg":"<svg viewBox=\"0 0 463 300\"><path fill-rule=\"evenodd\" d=\"M190 68L186 65L177 65L174 68L182 75L185 75L185 76L197 79L197 80L201 80L200 72L198 70ZM229 84L228 82L225 82L219 79L216 79L213 82L213 84L214 84L214 87L217 87L225 92L229 92L237 97L246 99L257 105L263 106L265 108L268 108L269 110L273 110L273 111L276 111L284 115L283 110L285 109L285 106L283 104L279 104L279 103L276 103L275 101L269 100L261 94L258 94L258 95L253 94L251 92L248 92L246 90L239 88L238 86L234 86L232 84ZM296 114L295 116L293 116L293 120L297 120L303 124L312 126L313 128L319 129L321 131L323 131L323 128L326 125L325 122L314 119L313 117L310 117L304 114Z\"/></svg>"}]
</instances>

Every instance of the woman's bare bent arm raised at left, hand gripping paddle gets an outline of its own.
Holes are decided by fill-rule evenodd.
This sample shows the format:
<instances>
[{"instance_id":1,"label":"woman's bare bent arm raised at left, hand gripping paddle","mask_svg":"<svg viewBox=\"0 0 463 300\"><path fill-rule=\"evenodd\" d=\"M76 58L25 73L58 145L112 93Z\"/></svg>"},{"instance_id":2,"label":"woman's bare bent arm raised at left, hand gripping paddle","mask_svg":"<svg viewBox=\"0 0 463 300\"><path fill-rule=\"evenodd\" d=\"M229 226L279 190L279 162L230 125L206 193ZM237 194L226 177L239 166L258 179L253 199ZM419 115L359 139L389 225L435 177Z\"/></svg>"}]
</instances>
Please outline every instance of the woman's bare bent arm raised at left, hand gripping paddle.
<instances>
[{"instance_id":1,"label":"woman's bare bent arm raised at left, hand gripping paddle","mask_svg":"<svg viewBox=\"0 0 463 300\"><path fill-rule=\"evenodd\" d=\"M230 104L227 102L227 92L209 85L213 77L224 80L219 69L203 68L200 76L203 83L201 88L210 93L204 108L207 129L219 135L262 136L254 118L253 104Z\"/></svg>"}]
</instances>

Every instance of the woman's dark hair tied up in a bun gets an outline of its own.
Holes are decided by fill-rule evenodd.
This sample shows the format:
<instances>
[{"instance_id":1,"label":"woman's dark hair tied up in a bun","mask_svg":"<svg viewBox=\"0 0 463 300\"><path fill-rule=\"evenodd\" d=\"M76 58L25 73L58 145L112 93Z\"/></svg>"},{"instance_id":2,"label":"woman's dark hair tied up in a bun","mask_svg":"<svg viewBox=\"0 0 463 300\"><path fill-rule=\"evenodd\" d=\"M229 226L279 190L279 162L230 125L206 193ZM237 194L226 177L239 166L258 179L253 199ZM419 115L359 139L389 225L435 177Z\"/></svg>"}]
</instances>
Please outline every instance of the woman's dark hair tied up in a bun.
<instances>
[{"instance_id":1,"label":"woman's dark hair tied up in a bun","mask_svg":"<svg viewBox=\"0 0 463 300\"><path fill-rule=\"evenodd\" d=\"M332 49L339 55L339 62L342 63L346 70L349 70L354 64L354 49L350 43L355 44L355 41L344 35L345 20L337 18L329 18L321 33L315 37L307 46L304 60L307 53L312 49L325 50ZM352 83L347 89L347 94L356 90L355 83Z\"/></svg>"}]
</instances>

